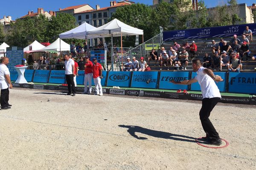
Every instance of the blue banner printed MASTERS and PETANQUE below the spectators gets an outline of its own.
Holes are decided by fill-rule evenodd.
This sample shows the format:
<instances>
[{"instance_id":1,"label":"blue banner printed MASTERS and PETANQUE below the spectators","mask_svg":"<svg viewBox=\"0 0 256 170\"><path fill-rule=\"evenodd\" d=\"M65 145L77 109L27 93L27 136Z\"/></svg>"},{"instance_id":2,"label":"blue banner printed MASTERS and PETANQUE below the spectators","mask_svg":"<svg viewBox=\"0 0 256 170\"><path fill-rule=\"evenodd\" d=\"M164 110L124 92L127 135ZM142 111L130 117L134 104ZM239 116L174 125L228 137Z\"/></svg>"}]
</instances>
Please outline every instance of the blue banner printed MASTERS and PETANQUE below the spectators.
<instances>
[{"instance_id":1,"label":"blue banner printed MASTERS and PETANQUE below the spectators","mask_svg":"<svg viewBox=\"0 0 256 170\"><path fill-rule=\"evenodd\" d=\"M132 88L157 88L157 71L134 71L131 80Z\"/></svg>"}]
</instances>

